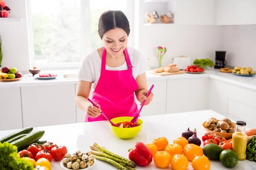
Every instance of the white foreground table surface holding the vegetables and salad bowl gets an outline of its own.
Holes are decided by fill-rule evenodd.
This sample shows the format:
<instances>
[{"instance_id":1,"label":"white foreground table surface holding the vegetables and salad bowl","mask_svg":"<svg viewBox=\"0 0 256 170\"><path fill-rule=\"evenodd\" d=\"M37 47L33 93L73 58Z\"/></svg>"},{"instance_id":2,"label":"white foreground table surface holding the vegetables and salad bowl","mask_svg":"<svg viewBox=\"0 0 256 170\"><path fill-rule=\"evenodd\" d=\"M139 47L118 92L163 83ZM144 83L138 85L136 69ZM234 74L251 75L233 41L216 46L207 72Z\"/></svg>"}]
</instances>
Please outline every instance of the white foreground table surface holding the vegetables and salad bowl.
<instances>
[{"instance_id":1,"label":"white foreground table surface holding the vegetables and salad bowl","mask_svg":"<svg viewBox=\"0 0 256 170\"><path fill-rule=\"evenodd\" d=\"M186 119L184 119L186 117ZM143 142L144 144L152 143L154 139L158 137L166 137L169 143L181 136L183 130L197 129L197 136L202 138L206 133L202 126L202 122L215 117L216 119L222 119L224 116L214 111L196 111L187 113L173 113L158 116L146 116L140 117L143 120L143 127L140 133L133 139L119 139L111 132L108 122L87 122L76 123L69 125L55 125L46 127L35 127L34 130L44 130L45 134L41 140L47 140L55 142L58 145L64 145L67 147L68 153L75 153L77 150L82 152L90 151L90 146L93 143L99 144L101 147L105 147L113 153L128 158L128 149L133 148L135 142ZM231 120L235 122L237 120ZM153 126L154 125L154 126ZM248 129L248 127L247 127ZM15 130L0 131L0 136L5 136L12 133ZM203 146L203 142L201 147ZM228 170L219 161L210 161L210 170ZM60 161L52 160L52 170L61 170ZM91 170L114 170L115 168L103 161L96 160L95 166ZM159 169L154 165L154 161L147 167L136 167L137 170ZM171 168L169 168L171 169ZM256 162L253 161L239 161L233 170L255 170ZM187 170L193 170L191 162Z\"/></svg>"}]
</instances>

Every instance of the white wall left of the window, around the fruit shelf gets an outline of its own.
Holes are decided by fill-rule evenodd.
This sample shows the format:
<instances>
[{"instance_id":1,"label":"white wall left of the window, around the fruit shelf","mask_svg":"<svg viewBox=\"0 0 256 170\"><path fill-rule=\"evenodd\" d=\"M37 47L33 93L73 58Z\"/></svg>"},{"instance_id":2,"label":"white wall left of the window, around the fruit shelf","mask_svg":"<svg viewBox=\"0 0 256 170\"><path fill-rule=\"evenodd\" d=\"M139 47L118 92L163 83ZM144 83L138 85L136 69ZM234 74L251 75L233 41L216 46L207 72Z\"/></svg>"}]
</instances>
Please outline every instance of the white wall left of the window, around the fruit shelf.
<instances>
[{"instance_id":1,"label":"white wall left of the window, around the fruit shelf","mask_svg":"<svg viewBox=\"0 0 256 170\"><path fill-rule=\"evenodd\" d=\"M16 67L20 71L28 70L29 39L26 19L26 0L6 1L11 8L10 18L22 18L19 21L0 21L0 35L3 43L2 66Z\"/></svg>"}]
</instances>

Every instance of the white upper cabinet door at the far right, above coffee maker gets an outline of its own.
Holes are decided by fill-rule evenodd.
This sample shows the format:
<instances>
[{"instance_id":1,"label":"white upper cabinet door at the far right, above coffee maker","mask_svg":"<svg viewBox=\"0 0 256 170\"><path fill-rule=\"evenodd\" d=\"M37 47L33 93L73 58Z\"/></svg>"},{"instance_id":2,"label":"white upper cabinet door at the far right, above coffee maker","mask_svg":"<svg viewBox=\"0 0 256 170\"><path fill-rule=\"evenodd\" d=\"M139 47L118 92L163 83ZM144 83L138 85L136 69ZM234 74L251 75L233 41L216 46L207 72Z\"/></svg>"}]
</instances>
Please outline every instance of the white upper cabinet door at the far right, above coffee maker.
<instances>
[{"instance_id":1,"label":"white upper cabinet door at the far right, above coffee maker","mask_svg":"<svg viewBox=\"0 0 256 170\"><path fill-rule=\"evenodd\" d=\"M217 25L256 24L256 0L218 0Z\"/></svg>"}]
</instances>

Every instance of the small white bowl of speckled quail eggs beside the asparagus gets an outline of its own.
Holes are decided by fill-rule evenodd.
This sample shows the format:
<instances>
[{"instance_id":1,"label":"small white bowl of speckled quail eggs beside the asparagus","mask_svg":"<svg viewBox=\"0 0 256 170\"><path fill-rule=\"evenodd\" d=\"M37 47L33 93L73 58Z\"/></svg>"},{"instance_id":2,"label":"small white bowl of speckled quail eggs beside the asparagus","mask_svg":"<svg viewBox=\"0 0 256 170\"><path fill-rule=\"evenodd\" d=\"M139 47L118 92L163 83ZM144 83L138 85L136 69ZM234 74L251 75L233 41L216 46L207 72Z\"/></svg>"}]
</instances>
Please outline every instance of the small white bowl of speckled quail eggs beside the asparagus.
<instances>
[{"instance_id":1,"label":"small white bowl of speckled quail eggs beside the asparagus","mask_svg":"<svg viewBox=\"0 0 256 170\"><path fill-rule=\"evenodd\" d=\"M67 153L61 160L64 170L87 170L95 164L95 158L90 152L82 153L80 150L74 154Z\"/></svg>"}]
</instances>

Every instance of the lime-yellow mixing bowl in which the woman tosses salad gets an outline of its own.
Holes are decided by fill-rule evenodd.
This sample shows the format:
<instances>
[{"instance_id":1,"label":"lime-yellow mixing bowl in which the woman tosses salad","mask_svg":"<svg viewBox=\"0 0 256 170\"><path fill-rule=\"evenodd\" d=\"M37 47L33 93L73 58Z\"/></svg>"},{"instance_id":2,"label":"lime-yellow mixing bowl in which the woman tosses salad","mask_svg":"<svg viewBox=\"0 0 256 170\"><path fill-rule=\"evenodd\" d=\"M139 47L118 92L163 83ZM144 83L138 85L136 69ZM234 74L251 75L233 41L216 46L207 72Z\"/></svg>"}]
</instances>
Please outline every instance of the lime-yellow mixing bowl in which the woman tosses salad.
<instances>
[{"instance_id":1,"label":"lime-yellow mixing bowl in which the woman tosses salad","mask_svg":"<svg viewBox=\"0 0 256 170\"><path fill-rule=\"evenodd\" d=\"M130 122L131 119L133 119L133 117L129 117L129 116L116 117L116 118L111 119L111 122L113 122L114 124L119 123L119 122L125 122L125 121ZM131 139L131 138L134 138L135 136L137 136L137 134L140 132L140 130L142 128L143 121L141 119L138 119L137 123L140 124L140 126L130 127L130 128L121 128L121 127L112 126L109 123L109 127L110 127L112 133L114 135L116 135L117 137L119 137L120 139Z\"/></svg>"}]
</instances>

